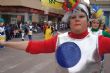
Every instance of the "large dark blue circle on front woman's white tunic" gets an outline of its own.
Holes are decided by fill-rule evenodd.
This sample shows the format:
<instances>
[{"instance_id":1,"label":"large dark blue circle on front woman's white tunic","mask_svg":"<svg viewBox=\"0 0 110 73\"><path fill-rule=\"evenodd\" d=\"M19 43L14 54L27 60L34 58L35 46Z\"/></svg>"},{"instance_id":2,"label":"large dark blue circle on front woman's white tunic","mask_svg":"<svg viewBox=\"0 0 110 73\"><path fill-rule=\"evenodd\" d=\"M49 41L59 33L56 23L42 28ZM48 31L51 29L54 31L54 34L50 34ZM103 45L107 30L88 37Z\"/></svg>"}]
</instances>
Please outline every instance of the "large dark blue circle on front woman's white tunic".
<instances>
[{"instance_id":1,"label":"large dark blue circle on front woman's white tunic","mask_svg":"<svg viewBox=\"0 0 110 73\"><path fill-rule=\"evenodd\" d=\"M56 60L64 68L75 66L80 58L80 48L74 42L63 43L56 50Z\"/></svg>"}]
</instances>

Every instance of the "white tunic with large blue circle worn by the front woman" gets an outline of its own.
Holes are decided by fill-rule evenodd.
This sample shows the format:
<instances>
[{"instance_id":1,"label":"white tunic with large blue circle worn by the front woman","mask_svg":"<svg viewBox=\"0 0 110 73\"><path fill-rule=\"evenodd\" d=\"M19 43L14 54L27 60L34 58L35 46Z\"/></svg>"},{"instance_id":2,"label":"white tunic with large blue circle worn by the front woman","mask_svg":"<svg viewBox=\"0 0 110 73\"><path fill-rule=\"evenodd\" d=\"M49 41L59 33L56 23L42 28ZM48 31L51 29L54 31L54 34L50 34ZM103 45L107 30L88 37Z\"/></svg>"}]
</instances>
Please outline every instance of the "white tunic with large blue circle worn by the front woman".
<instances>
[{"instance_id":1,"label":"white tunic with large blue circle worn by the front woman","mask_svg":"<svg viewBox=\"0 0 110 73\"><path fill-rule=\"evenodd\" d=\"M61 34L58 36L57 47L57 73L99 73L97 36L90 33L83 39L74 39L68 33Z\"/></svg>"}]
</instances>

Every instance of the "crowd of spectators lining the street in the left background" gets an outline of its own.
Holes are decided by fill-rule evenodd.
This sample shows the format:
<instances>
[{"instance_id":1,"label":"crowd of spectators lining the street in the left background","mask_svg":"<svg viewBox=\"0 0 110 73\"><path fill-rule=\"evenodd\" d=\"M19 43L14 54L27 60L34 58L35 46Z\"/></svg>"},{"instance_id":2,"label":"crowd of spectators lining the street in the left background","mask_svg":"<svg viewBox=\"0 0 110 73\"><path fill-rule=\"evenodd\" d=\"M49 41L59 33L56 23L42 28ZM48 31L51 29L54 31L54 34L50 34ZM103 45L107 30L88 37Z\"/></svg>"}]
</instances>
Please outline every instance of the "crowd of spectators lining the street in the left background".
<instances>
[{"instance_id":1,"label":"crowd of spectators lining the street in the left background","mask_svg":"<svg viewBox=\"0 0 110 73\"><path fill-rule=\"evenodd\" d=\"M64 27L63 23L48 25L48 22L36 24L36 23L29 23L29 22L20 22L18 24L7 24L5 23L3 18L0 18L3 20L3 26L5 29L5 35L6 35L6 41L11 40L13 38L21 38L22 41L26 39L26 36L28 36L29 40L32 40L32 35L34 33L44 33L46 30L46 25L50 26L51 32L53 34L54 31L61 31L66 30L68 27ZM65 24L66 25L66 24ZM44 34L45 38L45 34Z\"/></svg>"}]
</instances>

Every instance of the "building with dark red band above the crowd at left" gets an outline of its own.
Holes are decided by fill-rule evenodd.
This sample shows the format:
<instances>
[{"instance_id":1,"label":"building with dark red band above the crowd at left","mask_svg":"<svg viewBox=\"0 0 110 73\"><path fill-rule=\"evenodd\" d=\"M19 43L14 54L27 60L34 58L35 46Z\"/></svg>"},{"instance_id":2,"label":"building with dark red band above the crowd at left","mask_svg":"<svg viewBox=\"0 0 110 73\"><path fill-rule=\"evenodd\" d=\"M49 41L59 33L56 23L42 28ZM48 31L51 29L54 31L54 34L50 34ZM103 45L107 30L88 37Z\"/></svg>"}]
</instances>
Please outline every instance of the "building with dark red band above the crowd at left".
<instances>
[{"instance_id":1,"label":"building with dark red band above the crowd at left","mask_svg":"<svg viewBox=\"0 0 110 73\"><path fill-rule=\"evenodd\" d=\"M40 0L0 0L0 17L9 24L27 21L58 22L63 13L61 9L46 9Z\"/></svg>"}]
</instances>

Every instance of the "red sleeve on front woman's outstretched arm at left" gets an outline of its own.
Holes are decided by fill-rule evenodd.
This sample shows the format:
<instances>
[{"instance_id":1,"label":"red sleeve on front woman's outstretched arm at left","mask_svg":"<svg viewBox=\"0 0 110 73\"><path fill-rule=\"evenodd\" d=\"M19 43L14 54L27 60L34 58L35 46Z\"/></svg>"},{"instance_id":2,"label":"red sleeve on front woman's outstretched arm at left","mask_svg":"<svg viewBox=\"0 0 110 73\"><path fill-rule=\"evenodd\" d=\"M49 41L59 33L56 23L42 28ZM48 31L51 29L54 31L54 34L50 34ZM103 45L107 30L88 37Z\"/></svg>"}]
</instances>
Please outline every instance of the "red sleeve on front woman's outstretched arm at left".
<instances>
[{"instance_id":1,"label":"red sleeve on front woman's outstretched arm at left","mask_svg":"<svg viewBox=\"0 0 110 73\"><path fill-rule=\"evenodd\" d=\"M26 48L26 52L29 52L31 54L52 53L55 51L56 42L57 36L54 36L48 40L30 41L29 45Z\"/></svg>"}]
</instances>

